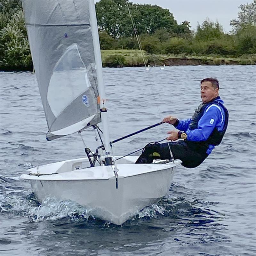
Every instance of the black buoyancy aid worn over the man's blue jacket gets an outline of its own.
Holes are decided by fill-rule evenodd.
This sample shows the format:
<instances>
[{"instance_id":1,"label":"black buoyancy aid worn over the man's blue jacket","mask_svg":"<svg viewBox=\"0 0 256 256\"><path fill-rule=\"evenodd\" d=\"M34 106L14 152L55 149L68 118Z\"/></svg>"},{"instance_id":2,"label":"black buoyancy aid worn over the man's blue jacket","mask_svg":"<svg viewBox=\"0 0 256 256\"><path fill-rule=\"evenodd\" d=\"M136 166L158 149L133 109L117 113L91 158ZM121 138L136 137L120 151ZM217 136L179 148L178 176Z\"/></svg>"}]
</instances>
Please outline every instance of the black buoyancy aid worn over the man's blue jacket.
<instances>
[{"instance_id":1,"label":"black buoyancy aid worn over the man's blue jacket","mask_svg":"<svg viewBox=\"0 0 256 256\"><path fill-rule=\"evenodd\" d=\"M207 140L204 140L204 141L188 141L187 140L186 141L188 146L195 148L197 151L205 153L206 150L209 148L209 145L214 145L214 146L220 145L220 142L223 139L223 136L227 130L228 110L227 108L224 107L222 103L218 101L219 99L220 99L220 96L214 98L210 102L201 103L199 107L195 109L195 113L192 116L191 122L188 127L189 130L195 130L198 128L198 122L201 119L201 117L204 115L205 109L210 107L212 104L218 105L221 109L224 110L224 113L225 113L224 126L221 131L218 131L217 127L215 127Z\"/></svg>"}]
</instances>

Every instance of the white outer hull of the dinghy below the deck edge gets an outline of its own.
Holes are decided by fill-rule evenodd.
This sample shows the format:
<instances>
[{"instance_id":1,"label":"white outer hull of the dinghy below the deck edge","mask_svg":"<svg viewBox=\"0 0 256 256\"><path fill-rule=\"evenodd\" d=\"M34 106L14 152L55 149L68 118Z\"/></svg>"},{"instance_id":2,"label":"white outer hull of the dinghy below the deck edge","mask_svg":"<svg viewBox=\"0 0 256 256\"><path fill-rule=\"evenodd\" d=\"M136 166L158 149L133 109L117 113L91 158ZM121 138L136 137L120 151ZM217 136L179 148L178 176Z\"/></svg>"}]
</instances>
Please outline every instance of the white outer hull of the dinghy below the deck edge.
<instances>
[{"instance_id":1,"label":"white outer hull of the dinghy below the deck edge","mask_svg":"<svg viewBox=\"0 0 256 256\"><path fill-rule=\"evenodd\" d=\"M108 180L30 180L39 201L47 196L86 206L102 220L120 225L169 191L174 168Z\"/></svg>"}]
</instances>

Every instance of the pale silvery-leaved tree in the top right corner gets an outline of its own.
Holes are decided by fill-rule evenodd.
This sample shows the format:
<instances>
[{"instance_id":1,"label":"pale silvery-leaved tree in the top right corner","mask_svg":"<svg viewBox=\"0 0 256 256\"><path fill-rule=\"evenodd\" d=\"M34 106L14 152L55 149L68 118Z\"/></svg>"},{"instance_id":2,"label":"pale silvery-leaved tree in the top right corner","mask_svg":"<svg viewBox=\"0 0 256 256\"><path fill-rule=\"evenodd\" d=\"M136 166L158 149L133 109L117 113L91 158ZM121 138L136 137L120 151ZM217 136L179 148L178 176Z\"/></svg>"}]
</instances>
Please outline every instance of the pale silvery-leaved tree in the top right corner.
<instances>
[{"instance_id":1,"label":"pale silvery-leaved tree in the top right corner","mask_svg":"<svg viewBox=\"0 0 256 256\"><path fill-rule=\"evenodd\" d=\"M239 29L248 25L256 26L256 0L253 0L250 4L241 4L239 9L237 19L230 20L230 25L233 26L234 33L237 33Z\"/></svg>"}]
</instances>

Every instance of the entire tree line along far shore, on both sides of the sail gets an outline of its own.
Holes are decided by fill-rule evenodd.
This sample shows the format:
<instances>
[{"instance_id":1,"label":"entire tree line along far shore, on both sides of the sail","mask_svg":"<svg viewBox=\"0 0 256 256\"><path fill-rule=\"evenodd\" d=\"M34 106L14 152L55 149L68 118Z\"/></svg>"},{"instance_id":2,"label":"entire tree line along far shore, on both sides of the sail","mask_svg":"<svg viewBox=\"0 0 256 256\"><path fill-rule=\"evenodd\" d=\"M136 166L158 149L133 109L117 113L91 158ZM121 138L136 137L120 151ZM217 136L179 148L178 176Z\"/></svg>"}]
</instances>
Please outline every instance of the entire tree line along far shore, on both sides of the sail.
<instances>
[{"instance_id":1,"label":"entire tree line along far shore, on both sides of the sail","mask_svg":"<svg viewBox=\"0 0 256 256\"><path fill-rule=\"evenodd\" d=\"M241 4L232 31L205 19L191 30L189 21L178 24L168 9L133 4L126 0L101 0L95 4L101 49L142 49L149 54L229 56L256 54L256 0ZM132 20L131 20L132 17ZM133 26L134 25L134 26ZM31 69L24 16L20 0L0 2L0 68Z\"/></svg>"}]
</instances>

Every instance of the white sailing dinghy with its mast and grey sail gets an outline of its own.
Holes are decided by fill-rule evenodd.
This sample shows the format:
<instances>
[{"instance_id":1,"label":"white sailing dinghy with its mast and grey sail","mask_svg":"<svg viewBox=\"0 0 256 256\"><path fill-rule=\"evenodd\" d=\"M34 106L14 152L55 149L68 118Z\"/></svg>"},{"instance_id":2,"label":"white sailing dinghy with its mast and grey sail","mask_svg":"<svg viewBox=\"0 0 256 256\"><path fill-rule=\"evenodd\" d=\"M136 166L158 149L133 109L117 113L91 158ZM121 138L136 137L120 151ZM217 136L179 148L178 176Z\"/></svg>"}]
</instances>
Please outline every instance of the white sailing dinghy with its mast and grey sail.
<instances>
[{"instance_id":1,"label":"white sailing dinghy with its mast and grey sail","mask_svg":"<svg viewBox=\"0 0 256 256\"><path fill-rule=\"evenodd\" d=\"M166 195L181 161L135 164L137 156L111 155L94 1L22 0L22 5L47 140L89 127L100 135L100 122L103 139L95 154L85 148L87 157L31 168L20 178L29 180L39 201L72 200L120 225Z\"/></svg>"}]
</instances>

